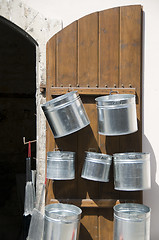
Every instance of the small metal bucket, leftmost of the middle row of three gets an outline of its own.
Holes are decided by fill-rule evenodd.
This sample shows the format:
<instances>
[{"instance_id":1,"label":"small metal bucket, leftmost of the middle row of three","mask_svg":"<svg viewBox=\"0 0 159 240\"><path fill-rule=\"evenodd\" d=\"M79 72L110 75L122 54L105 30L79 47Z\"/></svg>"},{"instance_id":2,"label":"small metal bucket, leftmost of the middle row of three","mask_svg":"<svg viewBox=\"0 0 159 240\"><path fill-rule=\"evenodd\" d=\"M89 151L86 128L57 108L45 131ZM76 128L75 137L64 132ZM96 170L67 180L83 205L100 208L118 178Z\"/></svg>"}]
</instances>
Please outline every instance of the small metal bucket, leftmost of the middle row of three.
<instances>
[{"instance_id":1,"label":"small metal bucket, leftmost of the middle row of three","mask_svg":"<svg viewBox=\"0 0 159 240\"><path fill-rule=\"evenodd\" d=\"M47 178L71 180L75 178L75 153L53 151L47 153Z\"/></svg>"}]
</instances>

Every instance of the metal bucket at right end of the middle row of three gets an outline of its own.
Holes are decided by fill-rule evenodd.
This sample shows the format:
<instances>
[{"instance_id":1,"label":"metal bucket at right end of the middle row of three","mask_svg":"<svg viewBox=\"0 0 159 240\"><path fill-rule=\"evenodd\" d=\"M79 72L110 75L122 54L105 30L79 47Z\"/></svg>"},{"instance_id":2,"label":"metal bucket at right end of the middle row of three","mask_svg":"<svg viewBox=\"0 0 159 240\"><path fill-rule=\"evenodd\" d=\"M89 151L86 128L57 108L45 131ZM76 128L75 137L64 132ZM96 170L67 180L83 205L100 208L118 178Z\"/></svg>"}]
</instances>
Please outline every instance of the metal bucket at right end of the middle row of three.
<instances>
[{"instance_id":1,"label":"metal bucket at right end of the middle row of three","mask_svg":"<svg viewBox=\"0 0 159 240\"><path fill-rule=\"evenodd\" d=\"M151 187L149 153L116 153L113 157L115 189L136 191Z\"/></svg>"}]
</instances>

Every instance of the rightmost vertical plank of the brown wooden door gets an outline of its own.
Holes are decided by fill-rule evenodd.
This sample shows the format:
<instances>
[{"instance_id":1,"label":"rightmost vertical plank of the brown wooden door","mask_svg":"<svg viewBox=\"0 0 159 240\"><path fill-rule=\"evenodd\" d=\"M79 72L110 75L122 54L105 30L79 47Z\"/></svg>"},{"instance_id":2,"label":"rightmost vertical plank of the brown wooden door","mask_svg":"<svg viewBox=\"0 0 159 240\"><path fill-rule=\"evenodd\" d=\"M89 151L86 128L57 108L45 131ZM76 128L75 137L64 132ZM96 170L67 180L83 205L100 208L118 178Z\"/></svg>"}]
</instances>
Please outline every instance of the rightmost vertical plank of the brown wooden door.
<instances>
[{"instance_id":1,"label":"rightmost vertical plank of the brown wooden door","mask_svg":"<svg viewBox=\"0 0 159 240\"><path fill-rule=\"evenodd\" d=\"M140 5L120 9L119 87L130 84L136 89L138 131L120 137L120 152L142 151L142 8ZM121 192L120 197L142 201L142 192Z\"/></svg>"}]
</instances>

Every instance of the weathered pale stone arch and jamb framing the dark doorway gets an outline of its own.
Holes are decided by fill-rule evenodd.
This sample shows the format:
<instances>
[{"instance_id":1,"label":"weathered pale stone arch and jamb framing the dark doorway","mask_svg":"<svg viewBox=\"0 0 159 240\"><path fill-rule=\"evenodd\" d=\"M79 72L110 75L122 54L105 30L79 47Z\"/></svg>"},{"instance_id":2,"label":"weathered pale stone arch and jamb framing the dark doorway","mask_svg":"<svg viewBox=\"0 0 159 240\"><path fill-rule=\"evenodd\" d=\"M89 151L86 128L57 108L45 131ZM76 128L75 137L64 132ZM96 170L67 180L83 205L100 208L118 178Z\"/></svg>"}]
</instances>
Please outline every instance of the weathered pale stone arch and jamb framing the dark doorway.
<instances>
[{"instance_id":1,"label":"weathered pale stone arch and jamb framing the dark doorway","mask_svg":"<svg viewBox=\"0 0 159 240\"><path fill-rule=\"evenodd\" d=\"M46 81L46 42L61 30L61 20L48 19L21 0L0 0L0 15L14 24L14 28L37 42L36 47L36 106L37 106L37 197L44 182L45 173L45 118L40 105L45 97L40 85ZM29 139L30 140L30 139Z\"/></svg>"}]
</instances>

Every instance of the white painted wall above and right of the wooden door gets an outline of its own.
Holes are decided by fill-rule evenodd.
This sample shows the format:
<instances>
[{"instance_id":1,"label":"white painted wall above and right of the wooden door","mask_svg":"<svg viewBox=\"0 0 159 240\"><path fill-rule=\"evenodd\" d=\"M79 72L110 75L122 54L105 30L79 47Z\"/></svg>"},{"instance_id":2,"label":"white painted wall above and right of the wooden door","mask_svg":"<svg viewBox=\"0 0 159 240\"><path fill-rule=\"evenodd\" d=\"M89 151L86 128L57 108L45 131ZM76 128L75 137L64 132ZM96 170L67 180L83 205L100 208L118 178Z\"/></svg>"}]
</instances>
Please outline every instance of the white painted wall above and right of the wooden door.
<instances>
[{"instance_id":1,"label":"white painted wall above and right of the wooden door","mask_svg":"<svg viewBox=\"0 0 159 240\"><path fill-rule=\"evenodd\" d=\"M152 188L144 204L152 208L151 240L159 239L159 0L23 0L44 16L63 20L63 26L92 12L141 4L145 12L143 68L143 151L151 153Z\"/></svg>"}]
</instances>

